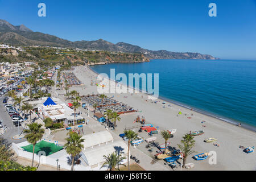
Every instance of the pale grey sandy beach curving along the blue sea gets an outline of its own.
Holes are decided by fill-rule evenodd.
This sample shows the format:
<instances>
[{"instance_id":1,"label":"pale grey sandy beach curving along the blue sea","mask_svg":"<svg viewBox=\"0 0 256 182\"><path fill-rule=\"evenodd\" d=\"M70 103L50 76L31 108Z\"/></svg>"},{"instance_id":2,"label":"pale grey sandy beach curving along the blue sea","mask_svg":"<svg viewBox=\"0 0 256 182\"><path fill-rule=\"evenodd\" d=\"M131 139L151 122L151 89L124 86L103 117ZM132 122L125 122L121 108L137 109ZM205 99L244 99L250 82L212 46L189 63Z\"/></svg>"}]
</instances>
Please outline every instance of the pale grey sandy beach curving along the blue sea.
<instances>
[{"instance_id":1,"label":"pale grey sandy beach curving along the blue sea","mask_svg":"<svg viewBox=\"0 0 256 182\"><path fill-rule=\"evenodd\" d=\"M70 90L77 90L80 95L97 94L97 74L90 70L88 67L75 67L73 72L82 82L81 86L72 86ZM93 85L91 86L91 81ZM111 81L112 82L112 81ZM159 88L161 89L161 88ZM196 111L181 107L179 105L166 102L163 107L163 100L158 99L157 104L154 101L150 101L147 98L147 94L106 94L108 97L114 96L115 100L121 101L125 104L133 106L135 112L133 114L121 115L121 121L117 122L118 127L113 131L114 133L121 134L127 127L133 127L138 125L134 123L134 119L137 115L143 116L146 119L146 123L152 123L154 126L158 126L160 131L167 129L177 129L174 134L174 138L170 138L168 142L171 142L171 147L177 147L181 138L185 133L189 131L204 130L205 133L200 136L196 136L196 144L193 148L196 151L194 154L188 156L187 163L194 163L195 168L191 170L255 170L256 169L256 156L255 152L252 154L246 154L239 146L254 146L256 144L256 134L253 131L232 125L228 122L221 121L220 119L210 117ZM142 97L143 96L143 97ZM170 105L170 106L169 106ZM181 111L182 114L178 114ZM191 117L191 118L188 118ZM201 123L205 121L204 123ZM203 127L205 125L205 127ZM138 129L136 129L138 133ZM138 133L143 138L149 138L147 133L143 131ZM164 139L160 134L154 135L157 137L157 142L164 143ZM216 142L205 143L204 139L214 137ZM214 146L213 143L218 143L220 146ZM138 150L144 152L152 159L154 158L155 149L153 152L148 152L146 142L137 146ZM207 160L196 161L191 157L203 152L215 151L217 154L217 164L210 165ZM163 163L163 160L159 160ZM155 169L157 170L157 169ZM170 168L170 170L172 170Z\"/></svg>"}]
</instances>

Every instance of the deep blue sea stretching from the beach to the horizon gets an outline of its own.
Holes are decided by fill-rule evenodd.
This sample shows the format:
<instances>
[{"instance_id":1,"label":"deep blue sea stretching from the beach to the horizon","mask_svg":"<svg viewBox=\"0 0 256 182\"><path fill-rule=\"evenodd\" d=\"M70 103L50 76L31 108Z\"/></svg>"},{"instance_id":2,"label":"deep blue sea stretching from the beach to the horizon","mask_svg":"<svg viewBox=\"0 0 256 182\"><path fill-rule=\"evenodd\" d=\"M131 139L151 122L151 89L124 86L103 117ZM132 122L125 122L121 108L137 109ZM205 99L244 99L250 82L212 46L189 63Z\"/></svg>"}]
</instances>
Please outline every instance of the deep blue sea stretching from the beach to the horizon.
<instances>
[{"instance_id":1,"label":"deep blue sea stretching from the beach to the horizon","mask_svg":"<svg viewBox=\"0 0 256 182\"><path fill-rule=\"evenodd\" d=\"M159 73L159 96L228 122L256 127L256 61L151 60L94 65L97 73Z\"/></svg>"}]
</instances>

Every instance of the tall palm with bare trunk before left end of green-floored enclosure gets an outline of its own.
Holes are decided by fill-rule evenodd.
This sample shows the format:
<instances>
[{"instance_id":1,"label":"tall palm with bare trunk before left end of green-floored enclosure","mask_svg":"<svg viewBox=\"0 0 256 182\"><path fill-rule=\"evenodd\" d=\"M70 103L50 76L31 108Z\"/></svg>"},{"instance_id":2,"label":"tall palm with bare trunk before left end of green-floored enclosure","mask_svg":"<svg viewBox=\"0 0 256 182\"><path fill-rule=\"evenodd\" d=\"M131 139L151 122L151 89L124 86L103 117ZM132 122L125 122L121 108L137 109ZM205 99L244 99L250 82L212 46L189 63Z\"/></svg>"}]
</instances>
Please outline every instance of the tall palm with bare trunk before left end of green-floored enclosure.
<instances>
[{"instance_id":1,"label":"tall palm with bare trunk before left end of green-floored enclosure","mask_svg":"<svg viewBox=\"0 0 256 182\"><path fill-rule=\"evenodd\" d=\"M24 133L27 133L25 135L25 138L27 139L27 141L29 143L31 143L33 145L33 158L32 158L32 167L34 164L34 154L35 154L35 145L36 142L38 142L40 139L43 138L44 135L44 129L42 129L41 127L43 125L38 124L38 123L32 123L30 125L27 125L29 127L29 129L25 129Z\"/></svg>"}]
</instances>

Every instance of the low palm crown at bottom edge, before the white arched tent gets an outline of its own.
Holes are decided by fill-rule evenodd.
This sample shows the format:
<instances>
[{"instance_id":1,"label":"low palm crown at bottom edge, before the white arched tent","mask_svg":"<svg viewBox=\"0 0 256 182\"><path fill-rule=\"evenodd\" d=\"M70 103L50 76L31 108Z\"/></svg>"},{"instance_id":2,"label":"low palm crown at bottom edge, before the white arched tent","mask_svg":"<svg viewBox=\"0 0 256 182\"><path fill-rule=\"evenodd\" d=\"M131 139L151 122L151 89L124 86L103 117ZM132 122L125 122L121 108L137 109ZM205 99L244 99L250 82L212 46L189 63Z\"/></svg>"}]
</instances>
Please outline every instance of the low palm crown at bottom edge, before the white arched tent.
<instances>
[{"instance_id":1,"label":"low palm crown at bottom edge, before the white arched tent","mask_svg":"<svg viewBox=\"0 0 256 182\"><path fill-rule=\"evenodd\" d=\"M126 159L126 157L122 157L120 154L117 154L117 152L113 152L112 154L109 154L108 156L103 156L106 159L106 162L102 164L101 168L108 164L108 168L110 171L115 171L115 167L118 167L119 165L125 166L125 164L121 164L122 160Z\"/></svg>"}]
</instances>

